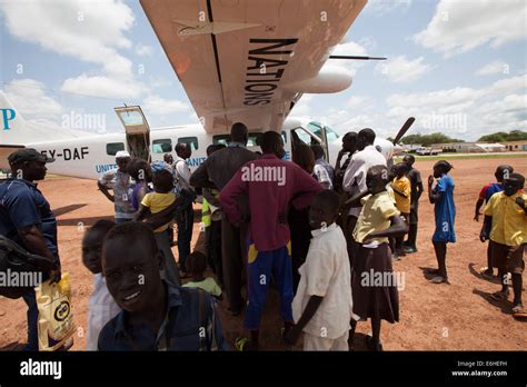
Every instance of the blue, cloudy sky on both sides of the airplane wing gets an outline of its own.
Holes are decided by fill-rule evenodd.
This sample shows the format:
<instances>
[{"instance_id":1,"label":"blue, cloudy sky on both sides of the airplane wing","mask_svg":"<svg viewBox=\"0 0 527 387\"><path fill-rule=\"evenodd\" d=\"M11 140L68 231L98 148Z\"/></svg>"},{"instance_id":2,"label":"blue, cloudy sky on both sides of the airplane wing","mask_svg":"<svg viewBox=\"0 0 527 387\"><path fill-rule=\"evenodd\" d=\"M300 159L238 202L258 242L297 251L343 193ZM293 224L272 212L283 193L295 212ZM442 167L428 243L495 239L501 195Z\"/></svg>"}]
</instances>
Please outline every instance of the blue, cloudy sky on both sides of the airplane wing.
<instances>
[{"instance_id":1,"label":"blue, cloudy sky on both sides of the airplane wing","mask_svg":"<svg viewBox=\"0 0 527 387\"><path fill-rule=\"evenodd\" d=\"M127 103L151 128L199 122L138 1L0 0L0 90L26 120L116 132ZM334 60L351 87L290 116L382 137L410 116L409 133L466 141L527 130L525 0L369 0L337 52L388 60Z\"/></svg>"}]
</instances>

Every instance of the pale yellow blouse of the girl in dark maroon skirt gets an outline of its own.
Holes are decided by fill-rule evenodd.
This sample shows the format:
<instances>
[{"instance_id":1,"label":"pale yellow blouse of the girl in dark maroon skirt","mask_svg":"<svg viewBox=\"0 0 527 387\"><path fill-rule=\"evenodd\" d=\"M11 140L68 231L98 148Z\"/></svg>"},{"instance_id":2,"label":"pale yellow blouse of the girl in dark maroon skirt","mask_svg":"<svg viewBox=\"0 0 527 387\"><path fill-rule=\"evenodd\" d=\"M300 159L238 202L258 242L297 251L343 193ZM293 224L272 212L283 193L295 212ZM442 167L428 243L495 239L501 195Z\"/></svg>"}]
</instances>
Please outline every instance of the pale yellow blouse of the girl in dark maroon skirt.
<instances>
[{"instance_id":1,"label":"pale yellow blouse of the girl in dark maroon skirt","mask_svg":"<svg viewBox=\"0 0 527 387\"><path fill-rule=\"evenodd\" d=\"M362 244L366 236L375 231L382 231L390 227L390 218L399 216L394 198L388 191L368 195L362 198L362 210L355 226L354 238ZM376 238L379 244L387 244L388 238Z\"/></svg>"}]
</instances>

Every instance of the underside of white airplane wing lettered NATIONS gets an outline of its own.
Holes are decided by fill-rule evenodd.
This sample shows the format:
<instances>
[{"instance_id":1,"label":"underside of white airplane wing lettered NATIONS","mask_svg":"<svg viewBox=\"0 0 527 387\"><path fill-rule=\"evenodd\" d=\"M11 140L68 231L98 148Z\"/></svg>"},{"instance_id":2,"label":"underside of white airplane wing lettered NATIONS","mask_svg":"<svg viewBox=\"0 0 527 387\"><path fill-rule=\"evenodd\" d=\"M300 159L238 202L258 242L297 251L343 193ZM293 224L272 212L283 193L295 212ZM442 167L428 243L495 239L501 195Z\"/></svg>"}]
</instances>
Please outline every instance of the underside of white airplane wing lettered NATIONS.
<instances>
[{"instance_id":1,"label":"underside of white airplane wing lettered NATIONS","mask_svg":"<svg viewBox=\"0 0 527 387\"><path fill-rule=\"evenodd\" d=\"M367 0L141 0L208 133L279 130L304 92L351 83L321 68Z\"/></svg>"}]
</instances>

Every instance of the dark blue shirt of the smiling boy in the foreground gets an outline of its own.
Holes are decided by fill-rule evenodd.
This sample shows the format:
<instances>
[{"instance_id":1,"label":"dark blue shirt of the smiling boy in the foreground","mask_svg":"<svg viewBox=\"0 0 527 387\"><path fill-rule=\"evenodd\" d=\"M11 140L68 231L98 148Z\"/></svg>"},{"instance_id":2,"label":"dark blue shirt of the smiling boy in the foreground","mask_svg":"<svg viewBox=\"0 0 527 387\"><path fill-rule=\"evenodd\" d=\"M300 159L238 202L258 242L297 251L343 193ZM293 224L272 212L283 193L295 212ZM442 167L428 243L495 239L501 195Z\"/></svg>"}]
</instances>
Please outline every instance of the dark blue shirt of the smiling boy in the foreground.
<instances>
[{"instance_id":1,"label":"dark blue shirt of the smiling boy in the foreground","mask_svg":"<svg viewBox=\"0 0 527 387\"><path fill-rule=\"evenodd\" d=\"M127 311L112 318L99 335L99 350L226 350L229 349L212 296L201 289L163 281L167 315L158 333L130 326ZM200 316L200 296L203 314Z\"/></svg>"}]
</instances>

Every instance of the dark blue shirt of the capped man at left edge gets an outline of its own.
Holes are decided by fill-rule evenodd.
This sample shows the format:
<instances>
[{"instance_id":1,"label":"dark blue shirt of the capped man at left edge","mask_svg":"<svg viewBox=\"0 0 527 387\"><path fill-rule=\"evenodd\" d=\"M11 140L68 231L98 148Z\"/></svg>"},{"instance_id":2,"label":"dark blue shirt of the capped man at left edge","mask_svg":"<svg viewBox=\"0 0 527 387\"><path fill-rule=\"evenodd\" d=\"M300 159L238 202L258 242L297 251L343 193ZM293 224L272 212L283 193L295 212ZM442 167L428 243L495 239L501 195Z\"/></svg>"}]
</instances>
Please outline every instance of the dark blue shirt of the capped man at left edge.
<instances>
[{"instance_id":1,"label":"dark blue shirt of the capped man at left edge","mask_svg":"<svg viewBox=\"0 0 527 387\"><path fill-rule=\"evenodd\" d=\"M23 179L7 179L0 183L0 234L27 248L18 229L37 226L46 247L59 259L57 220L48 200L37 185Z\"/></svg>"}]
</instances>

